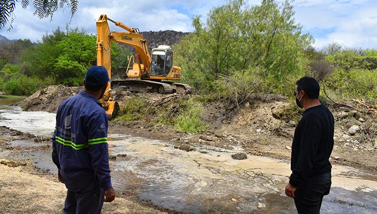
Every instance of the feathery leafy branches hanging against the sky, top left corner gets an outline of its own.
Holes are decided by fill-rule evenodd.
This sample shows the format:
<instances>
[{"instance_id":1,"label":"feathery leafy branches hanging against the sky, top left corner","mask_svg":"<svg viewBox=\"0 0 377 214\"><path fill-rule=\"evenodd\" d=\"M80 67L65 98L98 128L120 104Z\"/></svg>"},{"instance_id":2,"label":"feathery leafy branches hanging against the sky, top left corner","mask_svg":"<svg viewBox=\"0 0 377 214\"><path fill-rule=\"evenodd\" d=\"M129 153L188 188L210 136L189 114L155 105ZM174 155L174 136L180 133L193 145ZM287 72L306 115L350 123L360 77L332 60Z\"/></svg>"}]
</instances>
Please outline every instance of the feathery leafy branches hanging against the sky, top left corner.
<instances>
[{"instance_id":1,"label":"feathery leafy branches hanging against the sky, top left corner","mask_svg":"<svg viewBox=\"0 0 377 214\"><path fill-rule=\"evenodd\" d=\"M19 0L2 0L0 1L0 30L2 30L9 23L9 30L13 29L12 23L15 20L14 10L16 3ZM26 9L30 0L21 0L21 7ZM58 8L70 8L71 17L77 11L78 0L33 0L33 7L35 9L34 15L38 18L48 18L52 20L52 15Z\"/></svg>"}]
</instances>

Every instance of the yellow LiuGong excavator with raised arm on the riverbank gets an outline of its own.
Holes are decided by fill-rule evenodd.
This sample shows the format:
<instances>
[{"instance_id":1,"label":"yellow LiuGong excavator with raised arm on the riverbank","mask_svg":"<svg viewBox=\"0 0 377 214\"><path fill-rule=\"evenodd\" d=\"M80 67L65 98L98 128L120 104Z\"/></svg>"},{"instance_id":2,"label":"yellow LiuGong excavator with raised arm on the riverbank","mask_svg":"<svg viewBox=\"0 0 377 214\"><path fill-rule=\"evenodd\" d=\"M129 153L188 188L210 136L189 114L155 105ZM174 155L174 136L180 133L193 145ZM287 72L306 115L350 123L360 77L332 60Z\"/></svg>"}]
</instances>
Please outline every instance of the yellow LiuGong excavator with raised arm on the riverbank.
<instances>
[{"instance_id":1,"label":"yellow LiuGong excavator with raised arm on the riverbank","mask_svg":"<svg viewBox=\"0 0 377 214\"><path fill-rule=\"evenodd\" d=\"M124 29L110 31L109 23ZM102 105L109 115L109 119L116 116L119 106L112 101L111 88L120 88L128 91L158 92L160 94L189 94L192 89L187 84L168 81L180 81L182 69L173 65L174 52L168 45L159 45L153 48L151 55L147 41L140 34L139 29L130 28L119 21L113 21L106 15L100 15L97 22L97 65L104 66L111 78L111 41L131 45L136 49L136 54L131 56L126 70L127 78L112 79L111 86L107 86ZM129 65L132 62L132 68Z\"/></svg>"}]
</instances>

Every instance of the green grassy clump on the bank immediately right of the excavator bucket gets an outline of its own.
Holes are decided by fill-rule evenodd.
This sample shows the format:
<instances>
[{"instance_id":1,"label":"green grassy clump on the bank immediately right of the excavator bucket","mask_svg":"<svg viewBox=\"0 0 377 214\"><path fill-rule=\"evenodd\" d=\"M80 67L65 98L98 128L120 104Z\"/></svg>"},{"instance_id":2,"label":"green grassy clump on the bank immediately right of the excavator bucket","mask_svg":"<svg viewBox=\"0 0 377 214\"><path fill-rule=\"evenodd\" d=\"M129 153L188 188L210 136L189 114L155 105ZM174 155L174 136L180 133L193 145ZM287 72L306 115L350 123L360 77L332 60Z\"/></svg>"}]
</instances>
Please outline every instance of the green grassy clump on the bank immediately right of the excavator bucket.
<instances>
[{"instance_id":1,"label":"green grassy clump on the bank immediately right of the excavator bucket","mask_svg":"<svg viewBox=\"0 0 377 214\"><path fill-rule=\"evenodd\" d=\"M146 106L143 99L131 97L120 109L119 116L115 118L115 121L139 120L144 116L145 110Z\"/></svg>"}]
</instances>

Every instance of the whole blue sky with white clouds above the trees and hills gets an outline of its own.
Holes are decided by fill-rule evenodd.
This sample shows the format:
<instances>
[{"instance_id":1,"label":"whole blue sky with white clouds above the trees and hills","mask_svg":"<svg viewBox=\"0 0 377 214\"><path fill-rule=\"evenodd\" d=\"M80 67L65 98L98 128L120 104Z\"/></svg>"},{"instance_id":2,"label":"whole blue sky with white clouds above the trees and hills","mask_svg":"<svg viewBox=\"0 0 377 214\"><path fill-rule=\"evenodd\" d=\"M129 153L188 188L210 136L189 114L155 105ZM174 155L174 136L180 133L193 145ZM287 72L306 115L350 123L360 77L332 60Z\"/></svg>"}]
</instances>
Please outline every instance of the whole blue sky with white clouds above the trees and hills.
<instances>
[{"instance_id":1,"label":"whole blue sky with white clouds above the trees and hills","mask_svg":"<svg viewBox=\"0 0 377 214\"><path fill-rule=\"evenodd\" d=\"M248 5L260 4L261 0L245 0ZM20 1L19 1L20 2ZM278 0L282 2L282 0ZM79 0L70 27L87 29L95 34L95 21L100 14L121 21L141 31L175 30L193 31L194 15L203 20L213 7L225 4L214 0ZM310 33L316 48L337 42L344 47L377 49L377 0L295 0L295 21L303 26L303 33ZM58 26L65 29L70 21L69 9L60 9L52 22L33 16L34 8L22 9L16 5L13 30L0 31L8 39L41 40L43 34L51 33ZM111 29L116 30L115 26Z\"/></svg>"}]
</instances>

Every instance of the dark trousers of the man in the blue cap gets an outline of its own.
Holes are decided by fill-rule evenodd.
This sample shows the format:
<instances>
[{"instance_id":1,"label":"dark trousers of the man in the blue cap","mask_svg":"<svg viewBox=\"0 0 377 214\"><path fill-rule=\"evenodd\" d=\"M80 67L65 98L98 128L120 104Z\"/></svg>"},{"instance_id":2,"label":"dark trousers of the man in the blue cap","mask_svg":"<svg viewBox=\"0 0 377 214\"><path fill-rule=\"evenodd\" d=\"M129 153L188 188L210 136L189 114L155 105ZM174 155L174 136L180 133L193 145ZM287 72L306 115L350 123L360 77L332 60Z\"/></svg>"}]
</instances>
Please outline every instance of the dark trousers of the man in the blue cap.
<instances>
[{"instance_id":1,"label":"dark trousers of the man in the blue cap","mask_svg":"<svg viewBox=\"0 0 377 214\"><path fill-rule=\"evenodd\" d=\"M85 190L67 190L63 214L101 213L103 205L103 190L94 180Z\"/></svg>"}]
</instances>

